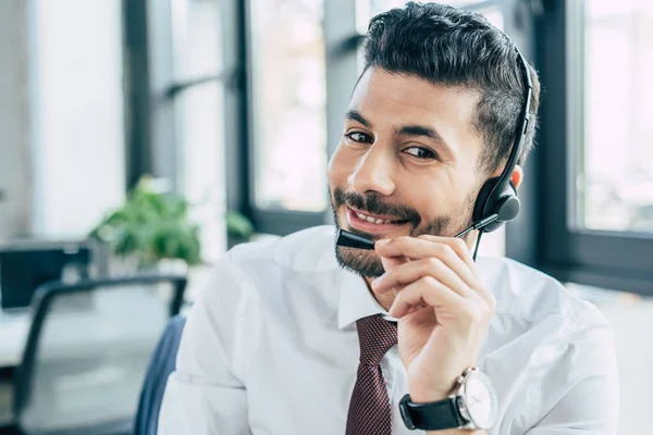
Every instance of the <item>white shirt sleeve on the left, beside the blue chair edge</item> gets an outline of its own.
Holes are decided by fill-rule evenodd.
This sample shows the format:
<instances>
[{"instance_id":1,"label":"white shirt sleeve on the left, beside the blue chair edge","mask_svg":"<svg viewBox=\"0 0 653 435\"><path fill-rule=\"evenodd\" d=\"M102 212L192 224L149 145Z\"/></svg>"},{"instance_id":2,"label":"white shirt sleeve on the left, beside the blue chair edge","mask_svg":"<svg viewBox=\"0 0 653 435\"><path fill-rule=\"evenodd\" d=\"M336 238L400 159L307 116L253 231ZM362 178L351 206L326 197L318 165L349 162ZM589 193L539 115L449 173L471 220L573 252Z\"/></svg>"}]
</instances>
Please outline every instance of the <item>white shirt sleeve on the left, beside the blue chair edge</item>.
<instances>
[{"instance_id":1,"label":"white shirt sleeve on the left, beside the blue chair edge","mask_svg":"<svg viewBox=\"0 0 653 435\"><path fill-rule=\"evenodd\" d=\"M160 435L250 435L239 339L245 286L225 258L186 321L161 411Z\"/></svg>"}]
</instances>

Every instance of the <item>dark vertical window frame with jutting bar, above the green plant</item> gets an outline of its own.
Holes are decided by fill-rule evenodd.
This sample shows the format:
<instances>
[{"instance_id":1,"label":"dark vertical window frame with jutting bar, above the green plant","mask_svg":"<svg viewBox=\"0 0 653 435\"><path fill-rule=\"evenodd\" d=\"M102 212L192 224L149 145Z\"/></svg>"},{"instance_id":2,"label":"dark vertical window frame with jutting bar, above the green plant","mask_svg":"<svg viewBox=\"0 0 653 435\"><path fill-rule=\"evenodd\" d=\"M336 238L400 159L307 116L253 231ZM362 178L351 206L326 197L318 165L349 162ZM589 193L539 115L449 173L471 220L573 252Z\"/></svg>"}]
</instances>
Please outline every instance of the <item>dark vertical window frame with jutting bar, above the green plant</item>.
<instances>
[{"instance_id":1,"label":"dark vertical window frame with jutting bar, above the green plant","mask_svg":"<svg viewBox=\"0 0 653 435\"><path fill-rule=\"evenodd\" d=\"M168 178L172 189L181 191L176 99L185 90L210 82L224 83L226 89L238 87L237 71L227 67L190 79L174 77L172 3L123 0L127 188L134 187L140 176L152 174Z\"/></svg>"}]
</instances>

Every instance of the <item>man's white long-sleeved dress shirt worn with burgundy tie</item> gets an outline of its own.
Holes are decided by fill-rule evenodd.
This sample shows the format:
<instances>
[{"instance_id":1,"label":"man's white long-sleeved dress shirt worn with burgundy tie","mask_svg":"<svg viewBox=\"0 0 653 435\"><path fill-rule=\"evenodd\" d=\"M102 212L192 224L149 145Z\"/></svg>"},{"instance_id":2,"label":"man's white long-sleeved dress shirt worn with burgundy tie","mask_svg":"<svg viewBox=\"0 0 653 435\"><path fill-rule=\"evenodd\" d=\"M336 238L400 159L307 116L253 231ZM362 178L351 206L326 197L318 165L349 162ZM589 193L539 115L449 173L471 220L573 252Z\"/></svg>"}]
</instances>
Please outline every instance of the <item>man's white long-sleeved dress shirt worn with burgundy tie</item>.
<instances>
[{"instance_id":1,"label":"man's white long-sleeved dress shirt worn with burgundy tie","mask_svg":"<svg viewBox=\"0 0 653 435\"><path fill-rule=\"evenodd\" d=\"M188 316L159 418L161 435L344 434L358 368L356 320L387 312L341 269L334 228L239 245ZM479 358L498 400L497 435L615 434L617 368L609 324L555 279L479 258L497 301ZM395 435L408 393L393 347L381 362ZM453 381L453 380L452 380Z\"/></svg>"}]
</instances>

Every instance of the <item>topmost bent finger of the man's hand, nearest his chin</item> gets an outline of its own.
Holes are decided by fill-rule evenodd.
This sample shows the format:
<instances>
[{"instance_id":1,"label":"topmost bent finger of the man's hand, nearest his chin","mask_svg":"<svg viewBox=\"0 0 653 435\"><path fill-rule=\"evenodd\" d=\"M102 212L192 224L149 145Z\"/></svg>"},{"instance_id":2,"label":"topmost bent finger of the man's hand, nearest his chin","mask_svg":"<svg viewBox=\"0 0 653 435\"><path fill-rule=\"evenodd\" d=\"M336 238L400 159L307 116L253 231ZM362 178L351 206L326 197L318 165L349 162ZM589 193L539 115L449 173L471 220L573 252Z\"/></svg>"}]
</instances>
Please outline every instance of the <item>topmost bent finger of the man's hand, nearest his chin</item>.
<instances>
[{"instance_id":1,"label":"topmost bent finger of the man's hand, nearest his chin","mask_svg":"<svg viewBox=\"0 0 653 435\"><path fill-rule=\"evenodd\" d=\"M420 236L419 238L398 237L392 239L384 246L379 246L377 251L382 257L387 256L391 258L398 256L404 256L411 260L438 258L453 270L467 286L473 289L482 288L480 281L476 276L473 262L470 268L469 263L463 260L459 254L459 251L465 249L460 245L460 243L465 245L463 240L447 237L428 237L429 238L426 236ZM441 243L440 240L444 241Z\"/></svg>"}]
</instances>

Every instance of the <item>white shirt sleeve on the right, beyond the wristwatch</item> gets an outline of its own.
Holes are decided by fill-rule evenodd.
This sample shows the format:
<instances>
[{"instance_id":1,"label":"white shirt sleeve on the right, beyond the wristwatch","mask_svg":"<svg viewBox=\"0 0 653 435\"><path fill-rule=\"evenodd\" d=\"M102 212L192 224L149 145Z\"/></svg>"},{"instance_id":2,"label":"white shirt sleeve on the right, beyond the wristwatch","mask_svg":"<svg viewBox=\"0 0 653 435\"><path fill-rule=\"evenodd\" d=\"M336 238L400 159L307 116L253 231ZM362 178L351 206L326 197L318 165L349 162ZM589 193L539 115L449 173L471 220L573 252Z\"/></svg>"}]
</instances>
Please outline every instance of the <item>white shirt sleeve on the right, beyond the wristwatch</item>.
<instances>
[{"instance_id":1,"label":"white shirt sleeve on the right, beyond the wristwatch","mask_svg":"<svg viewBox=\"0 0 653 435\"><path fill-rule=\"evenodd\" d=\"M612 326L591 306L558 344L563 358L542 378L540 420L527 435L616 435L619 385Z\"/></svg>"}]
</instances>

